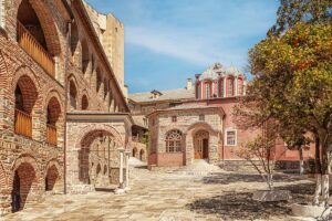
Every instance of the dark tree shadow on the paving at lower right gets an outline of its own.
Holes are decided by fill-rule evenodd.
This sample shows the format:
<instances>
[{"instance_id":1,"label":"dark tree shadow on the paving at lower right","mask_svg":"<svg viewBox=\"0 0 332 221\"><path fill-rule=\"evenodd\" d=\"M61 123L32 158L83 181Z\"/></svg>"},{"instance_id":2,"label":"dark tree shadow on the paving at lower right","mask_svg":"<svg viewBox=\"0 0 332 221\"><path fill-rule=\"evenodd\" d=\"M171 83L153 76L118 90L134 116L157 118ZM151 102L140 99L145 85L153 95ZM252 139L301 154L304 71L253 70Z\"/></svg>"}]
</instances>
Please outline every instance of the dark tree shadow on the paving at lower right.
<instances>
[{"instance_id":1,"label":"dark tree shadow on the paving at lower right","mask_svg":"<svg viewBox=\"0 0 332 221\"><path fill-rule=\"evenodd\" d=\"M227 192L225 194L198 199L186 207L198 213L215 214L225 220L269 220L270 215L284 219L293 202L309 202L314 192L314 183L279 187L290 190L293 199L280 202L259 202L251 199L251 192Z\"/></svg>"}]
</instances>

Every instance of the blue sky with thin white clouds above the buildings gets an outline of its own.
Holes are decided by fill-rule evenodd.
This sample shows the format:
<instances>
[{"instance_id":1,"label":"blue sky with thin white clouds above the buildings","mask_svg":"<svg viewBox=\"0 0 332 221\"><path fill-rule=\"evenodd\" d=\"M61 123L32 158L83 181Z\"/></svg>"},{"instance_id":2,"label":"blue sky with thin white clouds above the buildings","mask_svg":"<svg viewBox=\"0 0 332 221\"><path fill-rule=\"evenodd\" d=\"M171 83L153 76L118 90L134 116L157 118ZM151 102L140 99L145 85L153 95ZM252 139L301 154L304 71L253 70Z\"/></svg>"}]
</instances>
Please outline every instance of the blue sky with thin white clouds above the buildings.
<instances>
[{"instance_id":1,"label":"blue sky with thin white clouds above the buildings","mask_svg":"<svg viewBox=\"0 0 332 221\"><path fill-rule=\"evenodd\" d=\"M185 87L215 62L246 72L248 50L266 36L279 7L278 0L86 1L124 23L129 93Z\"/></svg>"}]
</instances>

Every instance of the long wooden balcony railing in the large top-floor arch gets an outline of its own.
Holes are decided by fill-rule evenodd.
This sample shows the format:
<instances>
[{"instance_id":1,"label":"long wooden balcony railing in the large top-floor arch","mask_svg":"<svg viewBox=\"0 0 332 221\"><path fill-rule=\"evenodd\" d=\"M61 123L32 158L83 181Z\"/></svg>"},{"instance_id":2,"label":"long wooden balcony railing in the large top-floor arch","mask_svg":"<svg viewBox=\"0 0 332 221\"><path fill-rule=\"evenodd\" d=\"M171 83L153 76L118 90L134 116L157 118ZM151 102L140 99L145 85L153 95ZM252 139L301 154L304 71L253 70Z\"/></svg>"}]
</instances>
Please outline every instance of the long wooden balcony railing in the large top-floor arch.
<instances>
[{"instance_id":1,"label":"long wooden balcony railing in the large top-floor arch","mask_svg":"<svg viewBox=\"0 0 332 221\"><path fill-rule=\"evenodd\" d=\"M55 62L53 57L43 49L34 36L18 21L18 42L20 46L48 72L55 76Z\"/></svg>"}]
</instances>

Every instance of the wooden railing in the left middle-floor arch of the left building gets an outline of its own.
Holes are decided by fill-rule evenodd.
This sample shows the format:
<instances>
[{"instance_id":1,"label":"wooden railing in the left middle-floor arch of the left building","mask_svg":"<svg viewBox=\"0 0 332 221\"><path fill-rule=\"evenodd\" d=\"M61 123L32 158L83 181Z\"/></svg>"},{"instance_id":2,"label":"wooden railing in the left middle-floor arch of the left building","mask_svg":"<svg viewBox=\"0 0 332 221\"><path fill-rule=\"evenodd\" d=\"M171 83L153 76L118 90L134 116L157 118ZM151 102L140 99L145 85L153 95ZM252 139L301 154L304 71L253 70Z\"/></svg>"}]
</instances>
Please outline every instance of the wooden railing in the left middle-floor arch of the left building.
<instances>
[{"instance_id":1,"label":"wooden railing in the left middle-floor arch of the left building","mask_svg":"<svg viewBox=\"0 0 332 221\"><path fill-rule=\"evenodd\" d=\"M32 137L32 117L31 115L15 109L15 122L14 122L15 133L23 135L25 137Z\"/></svg>"}]
</instances>

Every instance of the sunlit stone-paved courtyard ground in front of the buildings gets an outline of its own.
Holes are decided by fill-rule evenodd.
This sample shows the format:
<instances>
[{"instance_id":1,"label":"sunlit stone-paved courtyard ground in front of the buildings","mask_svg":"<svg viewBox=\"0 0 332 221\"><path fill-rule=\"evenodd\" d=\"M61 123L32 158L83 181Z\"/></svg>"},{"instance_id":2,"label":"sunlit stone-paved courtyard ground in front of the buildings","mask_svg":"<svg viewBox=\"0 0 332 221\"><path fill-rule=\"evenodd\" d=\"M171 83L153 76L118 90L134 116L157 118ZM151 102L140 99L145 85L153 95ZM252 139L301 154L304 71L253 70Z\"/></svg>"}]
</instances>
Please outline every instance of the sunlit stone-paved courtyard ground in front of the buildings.
<instances>
[{"instance_id":1,"label":"sunlit stone-paved courtyard ground in front of the buildings","mask_svg":"<svg viewBox=\"0 0 332 221\"><path fill-rule=\"evenodd\" d=\"M282 181L281 181L282 180ZM301 186L301 188L299 188ZM290 220L289 204L258 203L251 192L264 189L255 173L214 171L210 175L133 169L132 190L122 196L111 191L52 196L4 220ZM308 180L289 176L276 181L277 188L294 190L297 201L305 199ZM303 193L303 194L302 194Z\"/></svg>"}]
</instances>

